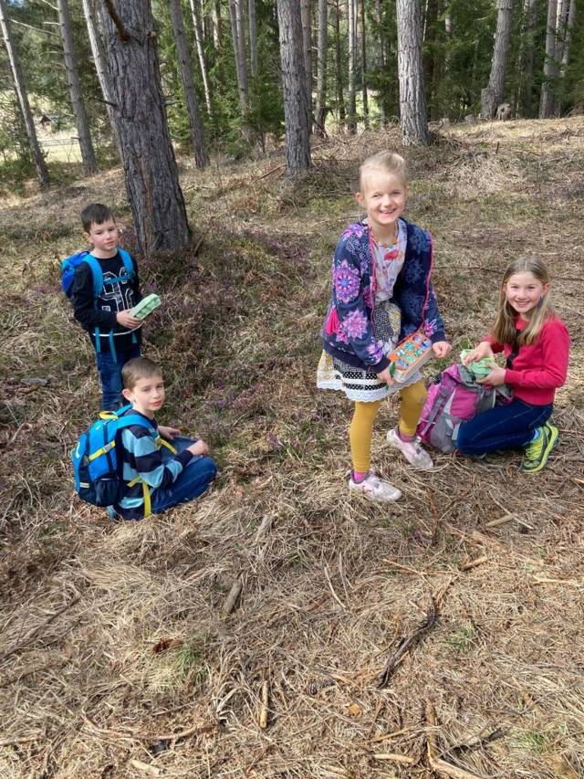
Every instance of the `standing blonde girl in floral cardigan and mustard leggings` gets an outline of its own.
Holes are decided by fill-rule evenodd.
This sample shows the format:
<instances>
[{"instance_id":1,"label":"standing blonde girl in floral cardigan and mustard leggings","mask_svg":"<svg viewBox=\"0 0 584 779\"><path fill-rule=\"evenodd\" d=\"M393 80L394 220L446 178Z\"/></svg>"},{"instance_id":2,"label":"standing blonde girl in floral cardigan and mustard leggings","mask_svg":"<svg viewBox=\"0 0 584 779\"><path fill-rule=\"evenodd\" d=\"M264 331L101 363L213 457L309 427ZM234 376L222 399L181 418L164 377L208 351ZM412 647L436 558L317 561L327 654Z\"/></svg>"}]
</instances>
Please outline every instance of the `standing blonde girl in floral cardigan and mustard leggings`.
<instances>
[{"instance_id":1,"label":"standing blonde girl in floral cardigan and mustard leggings","mask_svg":"<svg viewBox=\"0 0 584 779\"><path fill-rule=\"evenodd\" d=\"M408 195L405 161L381 152L360 166L355 195L366 212L339 238L332 262L332 294L322 329L318 364L321 389L342 391L355 403L349 427L352 470L349 490L371 500L398 500L401 492L370 468L371 435L381 400L401 394L392 447L415 468L433 468L416 438L426 390L420 374L398 389L387 355L396 342L423 327L433 351L450 350L430 282L432 237L403 216Z\"/></svg>"}]
</instances>

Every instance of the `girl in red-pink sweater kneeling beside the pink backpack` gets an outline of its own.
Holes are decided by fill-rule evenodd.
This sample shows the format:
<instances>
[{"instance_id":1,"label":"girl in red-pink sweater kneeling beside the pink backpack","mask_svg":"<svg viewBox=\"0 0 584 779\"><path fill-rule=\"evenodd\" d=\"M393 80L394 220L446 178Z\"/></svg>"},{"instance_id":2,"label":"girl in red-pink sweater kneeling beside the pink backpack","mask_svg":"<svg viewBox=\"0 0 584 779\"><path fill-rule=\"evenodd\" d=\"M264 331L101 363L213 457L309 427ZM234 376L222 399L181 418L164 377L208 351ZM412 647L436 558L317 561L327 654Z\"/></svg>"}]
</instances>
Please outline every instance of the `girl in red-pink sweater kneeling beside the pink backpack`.
<instances>
[{"instance_id":1,"label":"girl in red-pink sweater kneeling beside the pink backpack","mask_svg":"<svg viewBox=\"0 0 584 779\"><path fill-rule=\"evenodd\" d=\"M491 334L466 356L465 363L496 352L506 367L493 363L483 384L508 384L512 403L499 405L460 426L456 447L480 455L522 447L521 468L537 473L558 443L558 427L548 422L554 395L568 373L568 330L549 305L547 268L536 257L516 259L506 269Z\"/></svg>"}]
</instances>

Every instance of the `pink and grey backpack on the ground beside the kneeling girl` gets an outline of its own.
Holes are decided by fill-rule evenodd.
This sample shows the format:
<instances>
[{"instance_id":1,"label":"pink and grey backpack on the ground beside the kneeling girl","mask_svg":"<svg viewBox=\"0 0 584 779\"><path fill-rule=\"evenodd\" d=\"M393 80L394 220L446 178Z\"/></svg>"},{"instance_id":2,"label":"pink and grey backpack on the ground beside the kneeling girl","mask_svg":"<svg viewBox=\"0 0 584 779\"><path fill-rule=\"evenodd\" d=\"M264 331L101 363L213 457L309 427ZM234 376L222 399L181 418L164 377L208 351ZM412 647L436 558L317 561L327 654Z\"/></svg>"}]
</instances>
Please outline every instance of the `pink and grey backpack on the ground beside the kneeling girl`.
<instances>
[{"instance_id":1,"label":"pink and grey backpack on the ground beside the kneeling girl","mask_svg":"<svg viewBox=\"0 0 584 779\"><path fill-rule=\"evenodd\" d=\"M428 388L418 436L441 452L454 452L462 422L510 401L511 391L506 384L496 388L477 384L464 365L454 363Z\"/></svg>"}]
</instances>

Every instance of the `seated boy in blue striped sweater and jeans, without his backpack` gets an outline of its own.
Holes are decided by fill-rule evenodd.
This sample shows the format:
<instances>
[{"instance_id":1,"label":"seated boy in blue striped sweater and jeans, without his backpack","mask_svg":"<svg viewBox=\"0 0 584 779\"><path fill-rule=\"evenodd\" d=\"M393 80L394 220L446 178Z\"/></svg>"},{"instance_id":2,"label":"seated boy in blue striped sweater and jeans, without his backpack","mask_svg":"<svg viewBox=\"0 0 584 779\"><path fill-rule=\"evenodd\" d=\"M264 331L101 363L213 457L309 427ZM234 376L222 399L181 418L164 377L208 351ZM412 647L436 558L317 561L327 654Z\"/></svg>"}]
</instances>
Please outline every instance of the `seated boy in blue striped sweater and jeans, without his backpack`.
<instances>
[{"instance_id":1,"label":"seated boy in blue striped sweater and jeans, without his backpack","mask_svg":"<svg viewBox=\"0 0 584 779\"><path fill-rule=\"evenodd\" d=\"M201 495L217 468L207 457L209 447L203 439L174 437L178 430L156 423L154 415L164 402L159 365L148 357L134 358L123 366L121 378L122 394L132 405L126 413L145 416L150 429L131 425L120 432L122 479L127 488L114 510L125 520L141 520L150 512L160 514ZM161 436L172 441L175 454L162 446Z\"/></svg>"}]
</instances>

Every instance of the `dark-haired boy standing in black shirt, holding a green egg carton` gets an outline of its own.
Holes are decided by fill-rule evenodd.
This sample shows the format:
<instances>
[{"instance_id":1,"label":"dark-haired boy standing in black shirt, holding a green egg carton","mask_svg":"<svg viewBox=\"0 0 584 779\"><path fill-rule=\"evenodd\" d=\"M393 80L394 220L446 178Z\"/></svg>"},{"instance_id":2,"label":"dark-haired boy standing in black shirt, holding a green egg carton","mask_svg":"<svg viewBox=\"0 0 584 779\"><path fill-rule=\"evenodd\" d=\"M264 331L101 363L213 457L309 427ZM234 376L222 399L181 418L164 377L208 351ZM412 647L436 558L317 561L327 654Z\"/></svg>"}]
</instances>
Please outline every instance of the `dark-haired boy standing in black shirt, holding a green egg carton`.
<instances>
[{"instance_id":1,"label":"dark-haired boy standing in black shirt, holding a green egg carton","mask_svg":"<svg viewBox=\"0 0 584 779\"><path fill-rule=\"evenodd\" d=\"M92 248L75 269L73 310L96 351L102 407L115 411L122 402L121 369L141 354L142 321L130 313L141 300L138 267L118 248L120 233L107 205L91 203L81 212L81 221Z\"/></svg>"}]
</instances>

